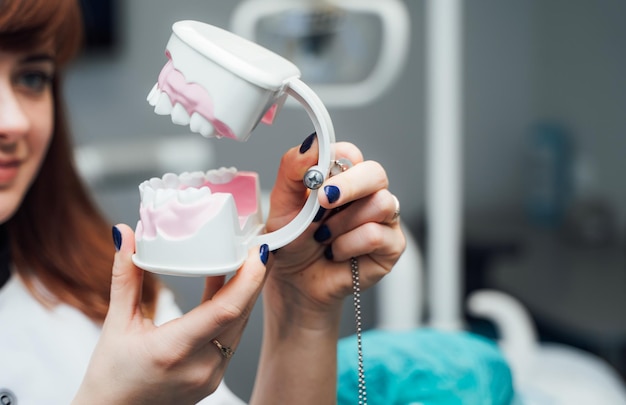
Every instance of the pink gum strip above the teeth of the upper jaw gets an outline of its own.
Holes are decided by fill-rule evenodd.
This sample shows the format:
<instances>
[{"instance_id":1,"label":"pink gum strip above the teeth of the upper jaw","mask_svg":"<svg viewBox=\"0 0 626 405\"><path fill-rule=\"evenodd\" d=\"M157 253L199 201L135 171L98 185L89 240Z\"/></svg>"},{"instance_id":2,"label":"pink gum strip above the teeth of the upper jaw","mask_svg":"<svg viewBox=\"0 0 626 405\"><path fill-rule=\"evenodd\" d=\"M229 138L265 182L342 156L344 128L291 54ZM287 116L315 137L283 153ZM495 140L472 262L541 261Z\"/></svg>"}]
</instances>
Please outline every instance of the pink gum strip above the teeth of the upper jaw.
<instances>
[{"instance_id":1,"label":"pink gum strip above the teeth of the upper jaw","mask_svg":"<svg viewBox=\"0 0 626 405\"><path fill-rule=\"evenodd\" d=\"M189 116L194 112L202 115L213 125L219 136L236 139L228 125L215 118L213 100L205 88L197 83L187 83L185 76L174 67L170 53L165 52L165 55L168 61L159 73L158 86L167 93L172 105L182 105Z\"/></svg>"}]
</instances>

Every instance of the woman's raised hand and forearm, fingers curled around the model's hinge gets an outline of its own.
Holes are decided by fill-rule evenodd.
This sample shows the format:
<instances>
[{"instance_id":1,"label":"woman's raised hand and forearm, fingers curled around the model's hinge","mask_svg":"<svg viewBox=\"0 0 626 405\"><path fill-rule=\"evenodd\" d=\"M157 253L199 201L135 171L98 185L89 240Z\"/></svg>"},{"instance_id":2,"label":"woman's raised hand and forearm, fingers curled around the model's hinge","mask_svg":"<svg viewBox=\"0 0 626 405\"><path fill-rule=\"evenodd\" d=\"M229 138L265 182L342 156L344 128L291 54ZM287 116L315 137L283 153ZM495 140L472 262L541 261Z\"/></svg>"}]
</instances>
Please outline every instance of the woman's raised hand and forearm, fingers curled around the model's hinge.
<instances>
[{"instance_id":1,"label":"woman's raised hand and forearm, fingers curled around the model's hinge","mask_svg":"<svg viewBox=\"0 0 626 405\"><path fill-rule=\"evenodd\" d=\"M353 166L326 180L316 220L273 255L263 290L264 335L253 404L336 402L341 303L353 291L350 259L358 260L360 288L366 289L391 270L406 244L384 169L363 161L352 144L334 148L335 159ZM302 179L316 163L313 137L283 156L268 231L301 210L308 196Z\"/></svg>"}]
</instances>

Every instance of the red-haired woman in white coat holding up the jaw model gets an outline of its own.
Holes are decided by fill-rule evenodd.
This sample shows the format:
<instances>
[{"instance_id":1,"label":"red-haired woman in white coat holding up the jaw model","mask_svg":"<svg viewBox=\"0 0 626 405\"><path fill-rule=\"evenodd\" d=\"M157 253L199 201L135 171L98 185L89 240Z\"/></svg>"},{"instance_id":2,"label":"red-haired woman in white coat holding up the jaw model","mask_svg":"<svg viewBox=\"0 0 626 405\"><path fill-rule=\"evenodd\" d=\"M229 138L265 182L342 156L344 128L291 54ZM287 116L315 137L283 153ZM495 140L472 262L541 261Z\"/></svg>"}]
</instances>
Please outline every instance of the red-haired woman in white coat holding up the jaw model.
<instances>
[{"instance_id":1,"label":"red-haired woman in white coat holding up the jaw model","mask_svg":"<svg viewBox=\"0 0 626 405\"><path fill-rule=\"evenodd\" d=\"M309 229L275 254L251 249L227 283L207 278L202 302L181 316L171 293L132 264L132 230L114 226L111 242L72 163L60 75L80 32L75 0L0 1L3 403L240 403L221 381L262 289L251 403L334 403L350 258L365 289L405 245L383 168L337 144L337 158L354 166L324 184ZM310 136L284 155L269 231L300 210L316 147Z\"/></svg>"}]
</instances>

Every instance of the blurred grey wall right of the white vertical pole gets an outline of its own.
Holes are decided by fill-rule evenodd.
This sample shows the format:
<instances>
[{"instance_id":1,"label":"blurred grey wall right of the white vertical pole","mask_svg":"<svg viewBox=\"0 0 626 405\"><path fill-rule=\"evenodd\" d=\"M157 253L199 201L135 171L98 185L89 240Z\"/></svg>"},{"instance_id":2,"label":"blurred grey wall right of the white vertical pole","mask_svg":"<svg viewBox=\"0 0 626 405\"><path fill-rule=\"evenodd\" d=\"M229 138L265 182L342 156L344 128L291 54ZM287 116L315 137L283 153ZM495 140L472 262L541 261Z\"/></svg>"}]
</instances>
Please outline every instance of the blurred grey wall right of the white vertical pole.
<instances>
[{"instance_id":1,"label":"blurred grey wall right of the white vertical pole","mask_svg":"<svg viewBox=\"0 0 626 405\"><path fill-rule=\"evenodd\" d=\"M466 2L465 208L524 215L531 125L569 129L624 227L626 3Z\"/></svg>"}]
</instances>

